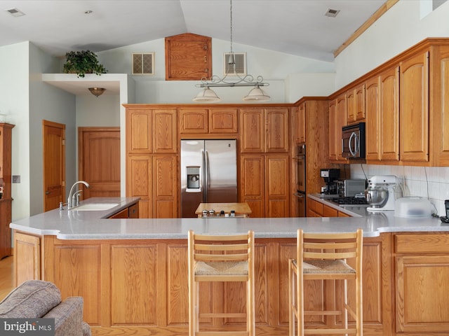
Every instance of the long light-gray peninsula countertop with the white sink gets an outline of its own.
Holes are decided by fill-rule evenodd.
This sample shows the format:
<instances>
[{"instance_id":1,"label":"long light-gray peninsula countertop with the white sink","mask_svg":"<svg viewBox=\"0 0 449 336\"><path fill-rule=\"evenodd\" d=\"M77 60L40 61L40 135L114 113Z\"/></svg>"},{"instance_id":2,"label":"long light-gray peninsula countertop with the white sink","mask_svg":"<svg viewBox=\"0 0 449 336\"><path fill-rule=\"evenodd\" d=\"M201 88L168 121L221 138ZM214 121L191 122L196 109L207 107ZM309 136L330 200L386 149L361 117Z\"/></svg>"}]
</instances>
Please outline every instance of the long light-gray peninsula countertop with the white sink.
<instances>
[{"instance_id":1,"label":"long light-gray peninsula countertop with the white sink","mask_svg":"<svg viewBox=\"0 0 449 336\"><path fill-rule=\"evenodd\" d=\"M10 227L35 235L55 235L58 239L187 239L189 229L217 234L254 230L256 238L295 238L298 228L328 233L362 228L364 237L377 237L381 232L449 232L449 225L438 218L398 218L394 211L353 218L107 218L138 200L94 197L81 204L103 202L119 206L107 211L55 209L14 221Z\"/></svg>"}]
</instances>

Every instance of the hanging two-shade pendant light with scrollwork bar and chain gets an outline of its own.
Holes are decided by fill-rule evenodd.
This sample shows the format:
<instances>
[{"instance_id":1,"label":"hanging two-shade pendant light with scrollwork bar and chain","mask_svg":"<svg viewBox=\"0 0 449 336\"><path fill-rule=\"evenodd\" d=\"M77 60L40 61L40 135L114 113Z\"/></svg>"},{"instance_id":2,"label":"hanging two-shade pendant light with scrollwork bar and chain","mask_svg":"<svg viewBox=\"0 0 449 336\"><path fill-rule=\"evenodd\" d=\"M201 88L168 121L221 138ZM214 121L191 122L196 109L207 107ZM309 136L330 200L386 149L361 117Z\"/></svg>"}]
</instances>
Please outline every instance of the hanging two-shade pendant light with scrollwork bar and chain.
<instances>
[{"instance_id":1,"label":"hanging two-shade pendant light with scrollwork bar and chain","mask_svg":"<svg viewBox=\"0 0 449 336\"><path fill-rule=\"evenodd\" d=\"M246 102L267 102L270 97L260 88L261 86L268 86L269 83L264 83L264 78L262 76L257 76L256 80L251 75L246 75L244 77L239 76L236 71L236 62L234 58L234 52L232 51L232 0L230 2L230 15L231 15L231 52L229 52L229 58L227 62L227 70L225 77L220 78L218 76L212 76L210 80L206 78L201 78L201 83L196 84L196 87L202 87L204 90L199 92L194 98L194 102L220 102L220 97L217 96L215 91L210 89L210 87L234 87L234 86L253 86L254 88L250 90L243 100ZM229 81L227 76L232 73L237 76L239 80Z\"/></svg>"}]
</instances>

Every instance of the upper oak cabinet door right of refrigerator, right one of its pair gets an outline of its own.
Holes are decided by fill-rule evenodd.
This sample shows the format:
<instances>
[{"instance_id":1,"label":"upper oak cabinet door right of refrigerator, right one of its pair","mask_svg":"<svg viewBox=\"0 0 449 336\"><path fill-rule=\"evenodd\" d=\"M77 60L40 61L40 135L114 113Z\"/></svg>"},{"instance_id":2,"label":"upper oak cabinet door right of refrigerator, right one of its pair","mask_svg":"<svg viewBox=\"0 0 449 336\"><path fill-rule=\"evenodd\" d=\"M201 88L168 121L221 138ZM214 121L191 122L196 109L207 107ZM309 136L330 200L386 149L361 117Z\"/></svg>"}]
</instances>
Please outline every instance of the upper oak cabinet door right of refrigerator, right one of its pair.
<instances>
[{"instance_id":1,"label":"upper oak cabinet door right of refrigerator, right one of its pair","mask_svg":"<svg viewBox=\"0 0 449 336\"><path fill-rule=\"evenodd\" d=\"M266 109L265 125L265 151L288 153L288 109Z\"/></svg>"}]
</instances>

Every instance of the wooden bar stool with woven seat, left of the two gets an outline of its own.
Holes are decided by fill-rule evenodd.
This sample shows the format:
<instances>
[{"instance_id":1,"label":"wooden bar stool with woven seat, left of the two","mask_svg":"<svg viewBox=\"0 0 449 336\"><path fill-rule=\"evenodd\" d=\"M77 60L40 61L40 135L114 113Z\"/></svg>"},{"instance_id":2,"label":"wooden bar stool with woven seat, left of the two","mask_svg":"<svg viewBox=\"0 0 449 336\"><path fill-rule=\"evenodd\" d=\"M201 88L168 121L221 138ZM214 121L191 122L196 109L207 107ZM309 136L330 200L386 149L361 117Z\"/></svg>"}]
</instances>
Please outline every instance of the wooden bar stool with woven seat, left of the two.
<instances>
[{"instance_id":1,"label":"wooden bar stool with woven seat, left of the two","mask_svg":"<svg viewBox=\"0 0 449 336\"><path fill-rule=\"evenodd\" d=\"M246 313L199 313L199 282L246 282ZM189 336L255 336L254 232L196 235L189 230ZM199 318L246 318L243 331L200 331Z\"/></svg>"}]
</instances>

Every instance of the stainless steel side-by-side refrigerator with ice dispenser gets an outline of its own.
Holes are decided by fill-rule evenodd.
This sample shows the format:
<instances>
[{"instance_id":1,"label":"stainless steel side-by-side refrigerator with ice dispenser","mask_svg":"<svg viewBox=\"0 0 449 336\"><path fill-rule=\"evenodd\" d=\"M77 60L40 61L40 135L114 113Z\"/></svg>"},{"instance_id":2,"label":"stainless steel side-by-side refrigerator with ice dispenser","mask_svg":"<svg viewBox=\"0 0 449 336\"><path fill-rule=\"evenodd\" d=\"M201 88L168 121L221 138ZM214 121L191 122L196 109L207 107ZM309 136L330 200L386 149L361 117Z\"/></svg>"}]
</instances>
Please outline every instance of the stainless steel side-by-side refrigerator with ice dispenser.
<instances>
[{"instance_id":1,"label":"stainless steel side-by-side refrigerator with ice dispenser","mask_svg":"<svg viewBox=\"0 0 449 336\"><path fill-rule=\"evenodd\" d=\"M182 217L198 216L200 203L237 202L236 140L181 140L180 173Z\"/></svg>"}]
</instances>

